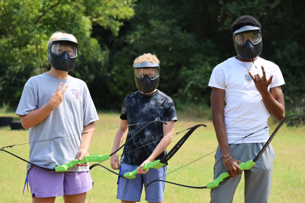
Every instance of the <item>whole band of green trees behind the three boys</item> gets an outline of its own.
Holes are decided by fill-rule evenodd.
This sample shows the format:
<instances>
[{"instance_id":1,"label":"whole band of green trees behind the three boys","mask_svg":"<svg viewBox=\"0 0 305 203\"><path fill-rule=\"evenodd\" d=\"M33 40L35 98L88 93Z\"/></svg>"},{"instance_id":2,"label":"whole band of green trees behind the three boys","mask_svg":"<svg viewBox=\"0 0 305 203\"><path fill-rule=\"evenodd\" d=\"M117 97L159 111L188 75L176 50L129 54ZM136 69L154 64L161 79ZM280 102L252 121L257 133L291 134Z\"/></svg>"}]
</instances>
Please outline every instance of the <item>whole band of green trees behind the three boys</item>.
<instances>
[{"instance_id":1,"label":"whole band of green trees behind the three boys","mask_svg":"<svg viewBox=\"0 0 305 203\"><path fill-rule=\"evenodd\" d=\"M213 68L236 55L231 24L251 15L262 25L260 56L283 73L287 114L303 114L302 8L281 0L0 0L0 102L18 102L27 78L49 67L48 37L64 30L80 44L71 74L87 82L98 109L118 110L137 90L132 64L148 52L160 59L158 89L180 107L209 105Z\"/></svg>"}]
</instances>

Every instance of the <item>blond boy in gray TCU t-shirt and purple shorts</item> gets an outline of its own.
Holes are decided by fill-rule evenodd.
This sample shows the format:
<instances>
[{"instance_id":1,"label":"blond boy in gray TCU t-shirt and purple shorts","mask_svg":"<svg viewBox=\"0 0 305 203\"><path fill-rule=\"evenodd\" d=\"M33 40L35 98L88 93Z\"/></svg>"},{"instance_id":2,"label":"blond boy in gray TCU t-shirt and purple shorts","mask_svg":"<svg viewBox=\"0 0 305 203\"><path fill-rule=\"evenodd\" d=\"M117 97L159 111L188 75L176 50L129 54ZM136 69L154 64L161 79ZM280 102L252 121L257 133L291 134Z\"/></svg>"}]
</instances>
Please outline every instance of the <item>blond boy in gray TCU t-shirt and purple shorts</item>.
<instances>
[{"instance_id":1,"label":"blond boy in gray TCU t-shirt and purple shorts","mask_svg":"<svg viewBox=\"0 0 305 203\"><path fill-rule=\"evenodd\" d=\"M87 156L94 121L99 120L86 83L68 75L75 67L77 51L72 34L53 33L48 41L51 69L27 81L16 110L23 127L29 129L29 142L34 142L29 160L45 168ZM74 136L52 139L67 135ZM65 202L85 202L93 185L87 163L78 163L67 172L30 164L27 170L33 202L54 202L62 195Z\"/></svg>"}]
</instances>

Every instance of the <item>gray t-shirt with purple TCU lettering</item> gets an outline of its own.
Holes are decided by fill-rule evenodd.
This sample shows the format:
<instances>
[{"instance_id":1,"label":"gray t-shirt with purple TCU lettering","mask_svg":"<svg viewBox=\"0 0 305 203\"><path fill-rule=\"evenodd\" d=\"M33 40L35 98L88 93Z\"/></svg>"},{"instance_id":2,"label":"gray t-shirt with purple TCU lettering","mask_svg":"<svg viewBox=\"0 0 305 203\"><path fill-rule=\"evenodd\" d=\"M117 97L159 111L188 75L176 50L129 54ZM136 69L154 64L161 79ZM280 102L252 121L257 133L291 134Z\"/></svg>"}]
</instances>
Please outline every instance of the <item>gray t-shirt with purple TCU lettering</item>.
<instances>
[{"instance_id":1,"label":"gray t-shirt with purple TCU lettering","mask_svg":"<svg viewBox=\"0 0 305 203\"><path fill-rule=\"evenodd\" d=\"M81 144L83 127L99 120L86 83L70 77L56 79L47 73L31 77L24 86L16 110L17 115L26 115L44 106L63 82L63 101L43 121L29 128L30 162L46 168L55 168L76 159ZM78 134L78 135L77 135ZM65 138L51 139L73 135ZM84 134L86 136L86 134ZM42 142L35 142L39 140ZM30 169L27 165L27 170ZM89 171L89 167L72 167L68 171Z\"/></svg>"}]
</instances>

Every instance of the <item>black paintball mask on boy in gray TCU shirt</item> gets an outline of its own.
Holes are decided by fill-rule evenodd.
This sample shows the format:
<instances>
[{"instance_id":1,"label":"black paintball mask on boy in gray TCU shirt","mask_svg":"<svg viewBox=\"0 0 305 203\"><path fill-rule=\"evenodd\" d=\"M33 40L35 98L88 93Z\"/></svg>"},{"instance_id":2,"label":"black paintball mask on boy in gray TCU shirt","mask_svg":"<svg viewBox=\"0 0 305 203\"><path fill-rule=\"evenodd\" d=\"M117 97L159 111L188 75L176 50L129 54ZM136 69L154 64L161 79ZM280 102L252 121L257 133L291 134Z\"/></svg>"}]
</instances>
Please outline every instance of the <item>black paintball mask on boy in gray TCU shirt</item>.
<instances>
[{"instance_id":1,"label":"black paintball mask on boy in gray TCU shirt","mask_svg":"<svg viewBox=\"0 0 305 203\"><path fill-rule=\"evenodd\" d=\"M48 60L56 70L72 71L76 64L78 44L68 37L53 40L48 46Z\"/></svg>"}]
</instances>

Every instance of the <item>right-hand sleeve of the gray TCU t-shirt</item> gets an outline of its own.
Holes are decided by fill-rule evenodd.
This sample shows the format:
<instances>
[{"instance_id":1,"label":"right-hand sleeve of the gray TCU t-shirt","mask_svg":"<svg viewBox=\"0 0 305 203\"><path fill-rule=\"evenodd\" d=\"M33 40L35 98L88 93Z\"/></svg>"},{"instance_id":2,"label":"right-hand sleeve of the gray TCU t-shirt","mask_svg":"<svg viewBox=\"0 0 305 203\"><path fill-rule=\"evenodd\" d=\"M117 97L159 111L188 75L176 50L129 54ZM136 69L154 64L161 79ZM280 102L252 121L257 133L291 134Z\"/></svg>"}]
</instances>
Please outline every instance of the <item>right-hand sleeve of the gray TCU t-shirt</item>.
<instances>
[{"instance_id":1,"label":"right-hand sleeve of the gray TCU t-shirt","mask_svg":"<svg viewBox=\"0 0 305 203\"><path fill-rule=\"evenodd\" d=\"M93 121L99 120L94 103L92 101L88 87L86 86L86 98L83 103L84 122L83 127L89 125Z\"/></svg>"}]
</instances>

